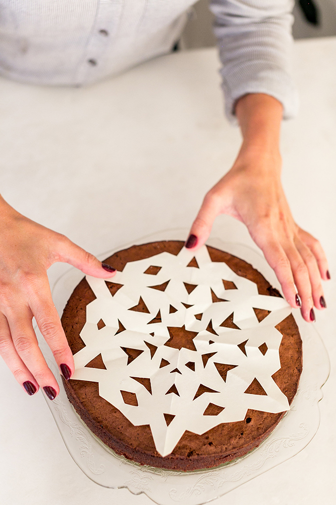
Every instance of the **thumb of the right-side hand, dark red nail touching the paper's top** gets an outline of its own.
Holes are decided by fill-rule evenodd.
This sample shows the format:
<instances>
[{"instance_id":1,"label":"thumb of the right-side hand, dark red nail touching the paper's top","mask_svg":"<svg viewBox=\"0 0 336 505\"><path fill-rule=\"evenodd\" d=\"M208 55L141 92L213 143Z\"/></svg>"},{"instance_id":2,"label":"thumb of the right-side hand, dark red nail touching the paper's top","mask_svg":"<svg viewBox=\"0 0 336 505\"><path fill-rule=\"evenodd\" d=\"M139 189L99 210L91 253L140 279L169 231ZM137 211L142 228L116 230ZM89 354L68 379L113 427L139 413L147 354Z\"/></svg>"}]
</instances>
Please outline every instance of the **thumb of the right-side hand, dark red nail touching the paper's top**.
<instances>
[{"instance_id":1,"label":"thumb of the right-side hand, dark red nail touching the paper's top","mask_svg":"<svg viewBox=\"0 0 336 505\"><path fill-rule=\"evenodd\" d=\"M203 200L195 221L192 224L188 240L187 249L198 249L208 239L213 222L218 216L221 207L221 197L214 192L208 192Z\"/></svg>"}]
</instances>

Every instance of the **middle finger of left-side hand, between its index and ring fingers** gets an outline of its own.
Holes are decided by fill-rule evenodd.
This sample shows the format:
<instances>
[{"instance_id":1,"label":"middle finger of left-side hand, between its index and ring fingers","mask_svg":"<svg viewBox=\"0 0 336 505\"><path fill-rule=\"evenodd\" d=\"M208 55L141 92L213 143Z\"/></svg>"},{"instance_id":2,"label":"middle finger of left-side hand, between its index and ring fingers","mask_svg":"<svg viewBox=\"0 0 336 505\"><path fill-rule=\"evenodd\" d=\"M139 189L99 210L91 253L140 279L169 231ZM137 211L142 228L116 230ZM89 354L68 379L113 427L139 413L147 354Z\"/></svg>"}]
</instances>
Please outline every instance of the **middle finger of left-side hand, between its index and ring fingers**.
<instances>
[{"instance_id":1,"label":"middle finger of left-side hand, between its index and ring fingers","mask_svg":"<svg viewBox=\"0 0 336 505\"><path fill-rule=\"evenodd\" d=\"M38 346L30 310L25 306L16 306L15 309L11 307L5 316L19 357L48 398L54 399L60 388Z\"/></svg>"}]
</instances>

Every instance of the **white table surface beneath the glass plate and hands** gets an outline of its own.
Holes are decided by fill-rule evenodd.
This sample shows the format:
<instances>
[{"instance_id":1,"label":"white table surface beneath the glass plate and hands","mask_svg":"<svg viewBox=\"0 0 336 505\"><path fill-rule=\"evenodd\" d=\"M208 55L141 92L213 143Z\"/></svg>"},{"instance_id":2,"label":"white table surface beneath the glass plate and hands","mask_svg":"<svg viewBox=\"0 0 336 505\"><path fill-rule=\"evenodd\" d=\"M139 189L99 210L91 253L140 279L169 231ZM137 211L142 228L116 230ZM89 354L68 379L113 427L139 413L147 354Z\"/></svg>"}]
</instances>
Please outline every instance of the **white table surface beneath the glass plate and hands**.
<instances>
[{"instance_id":1,"label":"white table surface beneath the glass plate and hands","mask_svg":"<svg viewBox=\"0 0 336 505\"><path fill-rule=\"evenodd\" d=\"M215 49L174 53L87 88L0 79L0 191L18 211L101 252L156 230L189 227L240 143L222 114ZM295 44L301 95L283 126L283 181L297 222L317 236L336 277L336 38ZM252 241L217 219L214 236ZM243 238L242 238L243 237ZM68 267L49 270L53 282ZM334 282L316 328L331 361L321 423L297 456L216 505L334 504ZM70 457L41 393L29 397L0 359L0 503L150 505L144 494L91 482Z\"/></svg>"}]
</instances>

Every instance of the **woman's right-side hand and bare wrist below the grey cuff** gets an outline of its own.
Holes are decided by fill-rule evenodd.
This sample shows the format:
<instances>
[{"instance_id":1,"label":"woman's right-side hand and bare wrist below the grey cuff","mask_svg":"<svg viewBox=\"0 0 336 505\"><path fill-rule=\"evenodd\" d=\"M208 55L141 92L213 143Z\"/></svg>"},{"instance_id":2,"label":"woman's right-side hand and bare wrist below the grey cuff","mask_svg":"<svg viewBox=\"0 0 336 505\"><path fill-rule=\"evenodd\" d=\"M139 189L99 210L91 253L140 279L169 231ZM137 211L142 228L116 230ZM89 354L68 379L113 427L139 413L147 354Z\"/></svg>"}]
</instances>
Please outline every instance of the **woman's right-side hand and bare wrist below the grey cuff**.
<instances>
[{"instance_id":1,"label":"woman's right-side hand and bare wrist below the grey cuff","mask_svg":"<svg viewBox=\"0 0 336 505\"><path fill-rule=\"evenodd\" d=\"M249 103L248 97L252 97ZM273 128L269 129L269 123L264 128L267 115L265 120L262 107L266 104L266 113L267 107L275 107L276 126L281 104L268 95L244 99L243 109L236 109L244 137L241 151L233 168L205 195L186 246L196 250L204 244L219 214L242 221L274 269L289 304L302 307L306 321L315 321L313 306L326 308L321 278L327 280L330 275L320 243L295 223L288 206L281 184L278 137L271 136L274 116Z\"/></svg>"}]
</instances>

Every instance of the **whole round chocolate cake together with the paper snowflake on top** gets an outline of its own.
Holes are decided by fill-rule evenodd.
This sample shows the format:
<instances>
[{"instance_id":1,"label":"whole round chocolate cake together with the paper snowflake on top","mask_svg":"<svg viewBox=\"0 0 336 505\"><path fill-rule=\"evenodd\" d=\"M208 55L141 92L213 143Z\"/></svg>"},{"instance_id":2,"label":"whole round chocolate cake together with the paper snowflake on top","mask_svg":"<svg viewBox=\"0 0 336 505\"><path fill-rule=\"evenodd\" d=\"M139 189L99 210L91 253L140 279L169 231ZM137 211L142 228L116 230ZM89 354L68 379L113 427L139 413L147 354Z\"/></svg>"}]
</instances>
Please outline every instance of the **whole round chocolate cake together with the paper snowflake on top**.
<instances>
[{"instance_id":1,"label":"whole round chocolate cake together with the paper snowflake on top","mask_svg":"<svg viewBox=\"0 0 336 505\"><path fill-rule=\"evenodd\" d=\"M76 371L63 382L119 455L189 471L271 433L297 391L302 342L287 302L250 264L183 245L134 245L104 261L116 277L78 284L62 316Z\"/></svg>"}]
</instances>

